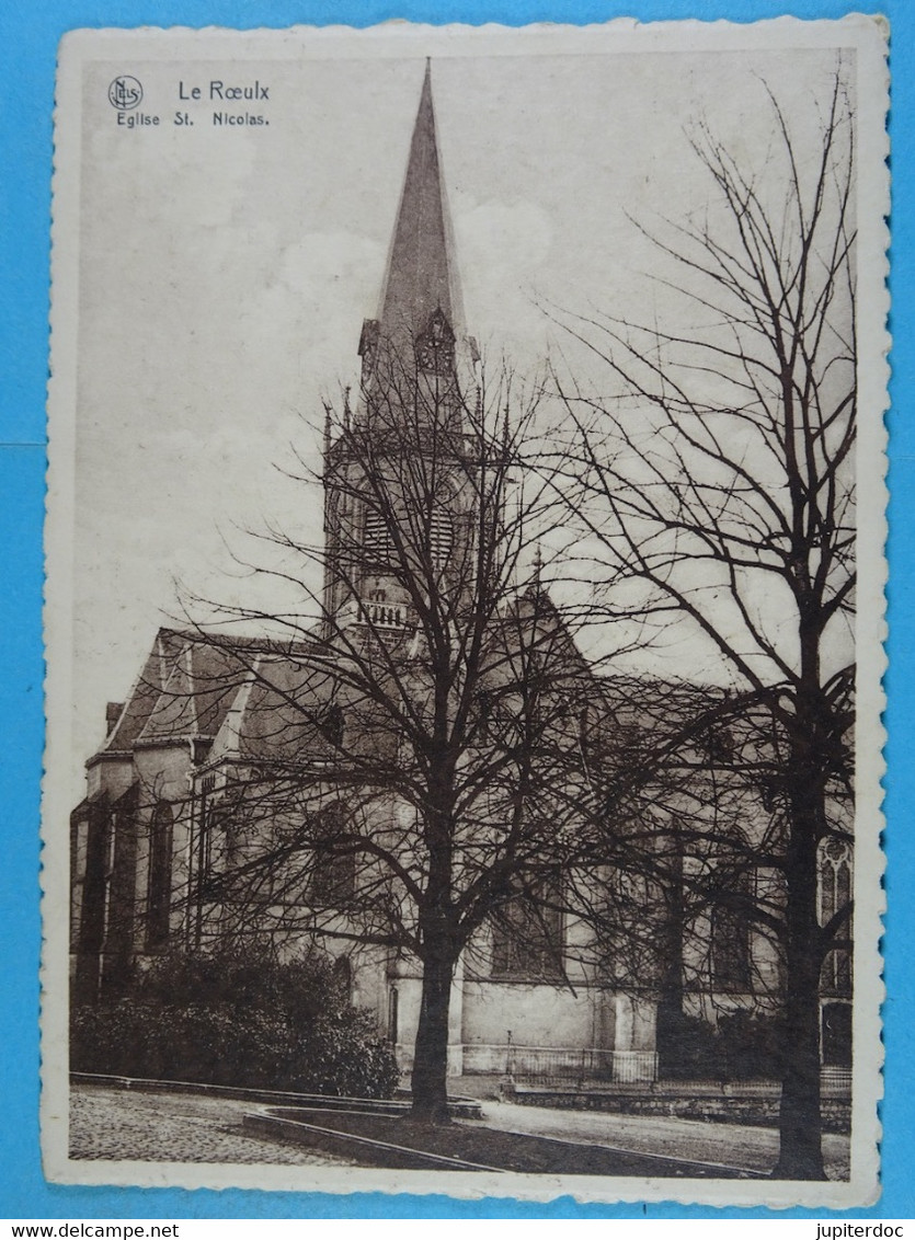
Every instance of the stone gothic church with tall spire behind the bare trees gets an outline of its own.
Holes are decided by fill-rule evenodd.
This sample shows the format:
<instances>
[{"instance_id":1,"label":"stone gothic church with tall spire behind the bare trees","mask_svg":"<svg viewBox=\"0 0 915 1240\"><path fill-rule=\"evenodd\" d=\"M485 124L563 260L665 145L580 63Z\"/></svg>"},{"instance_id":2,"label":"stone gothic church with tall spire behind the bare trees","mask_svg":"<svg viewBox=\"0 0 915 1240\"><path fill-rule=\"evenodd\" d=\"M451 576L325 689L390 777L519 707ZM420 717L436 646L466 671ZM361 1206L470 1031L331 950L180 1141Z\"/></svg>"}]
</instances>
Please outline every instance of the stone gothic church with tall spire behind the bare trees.
<instances>
[{"instance_id":1,"label":"stone gothic church with tall spire behind the bare trees","mask_svg":"<svg viewBox=\"0 0 915 1240\"><path fill-rule=\"evenodd\" d=\"M657 980L609 968L599 918L568 893L600 903L581 806L661 689L603 682L529 567L515 430L484 407L464 322L428 67L358 356L358 397L326 417L320 620L279 639L160 629L108 707L71 818L73 1001L167 951L316 942L409 1071L440 934L449 1076L651 1081ZM833 904L849 866L828 859ZM681 1007L775 1011L772 945L739 916L697 924ZM851 1014L847 960L826 1040Z\"/></svg>"}]
</instances>

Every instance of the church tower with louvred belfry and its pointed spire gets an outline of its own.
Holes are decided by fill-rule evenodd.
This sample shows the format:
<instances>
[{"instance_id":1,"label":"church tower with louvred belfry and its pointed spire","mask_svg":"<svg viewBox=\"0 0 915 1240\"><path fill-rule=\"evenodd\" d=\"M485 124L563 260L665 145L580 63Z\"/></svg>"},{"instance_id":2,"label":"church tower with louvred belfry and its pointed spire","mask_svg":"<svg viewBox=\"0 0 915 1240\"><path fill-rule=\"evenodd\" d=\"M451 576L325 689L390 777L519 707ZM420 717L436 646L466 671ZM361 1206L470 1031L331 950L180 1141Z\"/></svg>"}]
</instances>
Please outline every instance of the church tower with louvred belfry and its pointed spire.
<instances>
[{"instance_id":1,"label":"church tower with louvred belfry and its pointed spire","mask_svg":"<svg viewBox=\"0 0 915 1240\"><path fill-rule=\"evenodd\" d=\"M325 632L408 634L417 598L472 573L479 361L464 311L427 62L378 316L362 325L360 394L325 430Z\"/></svg>"}]
</instances>

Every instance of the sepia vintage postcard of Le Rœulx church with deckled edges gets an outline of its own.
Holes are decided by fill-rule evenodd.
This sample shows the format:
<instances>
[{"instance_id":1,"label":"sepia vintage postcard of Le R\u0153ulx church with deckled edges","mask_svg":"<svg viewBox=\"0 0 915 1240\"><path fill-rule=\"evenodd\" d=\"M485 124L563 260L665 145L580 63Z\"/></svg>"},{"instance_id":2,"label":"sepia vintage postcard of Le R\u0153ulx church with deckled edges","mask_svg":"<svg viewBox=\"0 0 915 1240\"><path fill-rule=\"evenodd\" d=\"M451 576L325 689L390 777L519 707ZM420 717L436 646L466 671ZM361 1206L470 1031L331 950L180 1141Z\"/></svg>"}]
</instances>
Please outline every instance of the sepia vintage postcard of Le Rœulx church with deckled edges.
<instances>
[{"instance_id":1,"label":"sepia vintage postcard of Le R\u0153ulx church with deckled edges","mask_svg":"<svg viewBox=\"0 0 915 1240\"><path fill-rule=\"evenodd\" d=\"M50 1179L877 1198L886 100L865 16L63 40Z\"/></svg>"}]
</instances>

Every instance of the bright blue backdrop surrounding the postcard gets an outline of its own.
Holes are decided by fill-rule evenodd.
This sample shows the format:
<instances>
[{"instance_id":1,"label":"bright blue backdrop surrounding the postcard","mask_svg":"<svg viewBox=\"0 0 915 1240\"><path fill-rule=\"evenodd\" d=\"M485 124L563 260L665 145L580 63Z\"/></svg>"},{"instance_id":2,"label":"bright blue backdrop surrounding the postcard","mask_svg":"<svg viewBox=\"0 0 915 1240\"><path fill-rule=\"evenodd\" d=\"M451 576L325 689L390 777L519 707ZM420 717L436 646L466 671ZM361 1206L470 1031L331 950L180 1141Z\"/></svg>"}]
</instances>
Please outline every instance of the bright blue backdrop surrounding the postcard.
<instances>
[{"instance_id":1,"label":"bright blue backdrop surrounding the postcard","mask_svg":"<svg viewBox=\"0 0 915 1240\"><path fill-rule=\"evenodd\" d=\"M47 381L48 231L52 107L57 42L81 26L238 27L368 26L392 17L428 22L591 22L617 16L642 21L671 17L751 21L789 11L797 17L839 17L853 4L827 0L0 0L0 1216L6 1218L709 1218L756 1216L766 1210L710 1210L677 1205L583 1207L569 1198L549 1205L505 1200L453 1202L441 1197L326 1197L248 1190L76 1188L46 1184L38 1154L38 784L42 761L41 534L45 502L45 387ZM870 9L867 4L862 9ZM874 5L873 7L878 7ZM914 557L908 518L915 512L915 428L905 417L915 391L911 193L915 187L915 5L879 5L893 27L893 312L890 427L890 672L886 678L886 854L890 915L885 940L886 1043L882 1107L884 1192L877 1207L854 1218L915 1215L915 936L913 847L906 833L915 801L914 766L905 758L915 742L909 703L913 667ZM909 807L906 810L906 806ZM826 1218L823 1210L790 1215ZM784 1215L782 1215L784 1216Z\"/></svg>"}]
</instances>

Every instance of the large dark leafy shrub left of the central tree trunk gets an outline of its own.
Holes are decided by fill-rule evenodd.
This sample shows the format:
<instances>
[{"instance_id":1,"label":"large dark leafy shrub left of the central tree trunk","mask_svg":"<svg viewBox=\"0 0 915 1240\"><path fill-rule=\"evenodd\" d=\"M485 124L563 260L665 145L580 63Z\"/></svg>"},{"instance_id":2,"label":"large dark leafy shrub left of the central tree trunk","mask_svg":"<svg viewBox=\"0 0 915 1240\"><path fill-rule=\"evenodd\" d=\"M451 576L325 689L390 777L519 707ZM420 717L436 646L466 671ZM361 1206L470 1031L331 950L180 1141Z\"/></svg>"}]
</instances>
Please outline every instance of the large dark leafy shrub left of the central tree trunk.
<instances>
[{"instance_id":1,"label":"large dark leafy shrub left of the central tree trunk","mask_svg":"<svg viewBox=\"0 0 915 1240\"><path fill-rule=\"evenodd\" d=\"M71 1066L363 1097L391 1097L398 1080L372 1016L317 955L166 957L129 996L74 1009Z\"/></svg>"}]
</instances>

